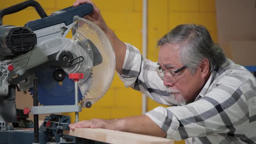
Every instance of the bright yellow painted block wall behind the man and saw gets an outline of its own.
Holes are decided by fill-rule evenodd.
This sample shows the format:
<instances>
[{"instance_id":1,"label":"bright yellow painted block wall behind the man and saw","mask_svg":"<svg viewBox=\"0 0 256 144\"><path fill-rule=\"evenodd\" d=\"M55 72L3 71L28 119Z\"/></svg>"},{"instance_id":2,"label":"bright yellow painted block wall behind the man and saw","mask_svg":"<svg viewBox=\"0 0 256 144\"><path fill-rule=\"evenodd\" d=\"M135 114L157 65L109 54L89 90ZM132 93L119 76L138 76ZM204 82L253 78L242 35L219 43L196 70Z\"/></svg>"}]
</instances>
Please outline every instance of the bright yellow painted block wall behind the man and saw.
<instances>
[{"instance_id":1,"label":"bright yellow painted block wall behind the man and saw","mask_svg":"<svg viewBox=\"0 0 256 144\"><path fill-rule=\"evenodd\" d=\"M0 9L23 0L1 0ZM37 0L47 14L72 5L74 0ZM94 0L97 7L116 35L142 51L142 0ZM27 21L38 19L33 8L5 16L3 24L23 26ZM148 58L157 61L156 42L172 28L182 23L206 26L217 41L215 0L148 0ZM148 99L148 110L159 104ZM69 113L74 121L74 114ZM92 108L83 108L79 120L91 118L121 118L141 115L141 93L125 88L118 76L106 95ZM184 141L176 142L183 144Z\"/></svg>"}]
</instances>

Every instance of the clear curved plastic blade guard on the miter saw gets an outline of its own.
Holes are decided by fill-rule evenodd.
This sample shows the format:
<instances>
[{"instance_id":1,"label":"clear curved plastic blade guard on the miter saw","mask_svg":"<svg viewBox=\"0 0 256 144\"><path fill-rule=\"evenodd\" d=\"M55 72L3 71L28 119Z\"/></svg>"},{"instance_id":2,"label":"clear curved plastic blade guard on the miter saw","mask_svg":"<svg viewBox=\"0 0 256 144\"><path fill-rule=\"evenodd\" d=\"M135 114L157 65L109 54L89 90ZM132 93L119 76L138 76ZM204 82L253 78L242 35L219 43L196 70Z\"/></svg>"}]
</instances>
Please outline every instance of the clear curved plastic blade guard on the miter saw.
<instances>
[{"instance_id":1,"label":"clear curved plastic blade guard on the miter saw","mask_svg":"<svg viewBox=\"0 0 256 144\"><path fill-rule=\"evenodd\" d=\"M105 33L89 20L74 17L73 37L58 53L56 59L62 59L63 53L72 53L72 66L62 67L70 73L83 73L79 80L79 89L83 95L82 107L91 107L108 91L115 75L115 53Z\"/></svg>"}]
</instances>

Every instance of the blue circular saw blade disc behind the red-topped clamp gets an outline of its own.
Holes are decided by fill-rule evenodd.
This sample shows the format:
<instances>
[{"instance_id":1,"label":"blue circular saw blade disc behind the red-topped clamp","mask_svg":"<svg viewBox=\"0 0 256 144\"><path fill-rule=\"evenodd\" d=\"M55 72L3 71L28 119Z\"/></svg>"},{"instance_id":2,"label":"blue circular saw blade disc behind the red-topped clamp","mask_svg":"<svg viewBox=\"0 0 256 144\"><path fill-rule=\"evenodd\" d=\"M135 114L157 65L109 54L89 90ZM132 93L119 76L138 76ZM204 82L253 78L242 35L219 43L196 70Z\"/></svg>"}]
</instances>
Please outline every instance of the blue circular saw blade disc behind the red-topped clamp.
<instances>
[{"instance_id":1,"label":"blue circular saw blade disc behind the red-topped clamp","mask_svg":"<svg viewBox=\"0 0 256 144\"><path fill-rule=\"evenodd\" d=\"M65 78L57 82L53 73L54 66L48 67L42 71L35 72L38 77L38 101L42 105L74 105L75 104L75 82L69 79L65 73ZM33 89L30 89L33 94ZM82 93L79 90L79 101L82 100Z\"/></svg>"}]
</instances>

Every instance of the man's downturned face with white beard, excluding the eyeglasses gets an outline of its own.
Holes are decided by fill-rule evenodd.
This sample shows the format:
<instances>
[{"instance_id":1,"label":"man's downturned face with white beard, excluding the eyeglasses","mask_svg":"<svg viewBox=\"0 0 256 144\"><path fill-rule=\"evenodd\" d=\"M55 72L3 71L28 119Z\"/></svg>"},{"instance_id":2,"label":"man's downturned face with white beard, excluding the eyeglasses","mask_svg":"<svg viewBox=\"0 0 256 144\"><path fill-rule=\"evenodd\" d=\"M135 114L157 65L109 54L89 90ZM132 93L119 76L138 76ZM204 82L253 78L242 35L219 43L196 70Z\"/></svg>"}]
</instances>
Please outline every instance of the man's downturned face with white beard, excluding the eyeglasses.
<instances>
[{"instance_id":1,"label":"man's downturned face with white beard, excluding the eyeglasses","mask_svg":"<svg viewBox=\"0 0 256 144\"><path fill-rule=\"evenodd\" d=\"M179 45L166 44L160 48L158 63L161 69L164 71L176 70L184 66L179 59L178 47ZM176 78L177 82L163 81L174 104L184 104L186 101L193 101L204 85L200 69L196 70L195 75L192 75L187 68L182 70L181 73L182 75ZM168 77L169 75L165 74L164 76Z\"/></svg>"}]
</instances>

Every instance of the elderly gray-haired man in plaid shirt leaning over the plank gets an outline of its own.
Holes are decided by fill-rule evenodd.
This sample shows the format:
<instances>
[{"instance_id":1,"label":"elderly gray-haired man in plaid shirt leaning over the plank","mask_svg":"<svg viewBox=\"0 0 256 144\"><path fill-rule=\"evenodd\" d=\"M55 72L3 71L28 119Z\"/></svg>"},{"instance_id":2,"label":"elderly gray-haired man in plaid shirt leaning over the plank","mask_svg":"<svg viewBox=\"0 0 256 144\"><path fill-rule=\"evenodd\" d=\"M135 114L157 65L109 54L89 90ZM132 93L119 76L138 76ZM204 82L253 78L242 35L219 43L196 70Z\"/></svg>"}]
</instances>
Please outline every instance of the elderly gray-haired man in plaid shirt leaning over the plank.
<instances>
[{"instance_id":1,"label":"elderly gray-haired man in plaid shirt leaning over the plank","mask_svg":"<svg viewBox=\"0 0 256 144\"><path fill-rule=\"evenodd\" d=\"M77 0L74 6L79 3L92 1ZM71 129L106 128L186 139L188 144L256 142L256 79L226 58L204 26L172 29L158 41L156 63L119 40L95 5L85 18L102 28L112 42L116 70L125 86L161 104L176 106L157 107L135 117L79 121L70 124Z\"/></svg>"}]
</instances>

